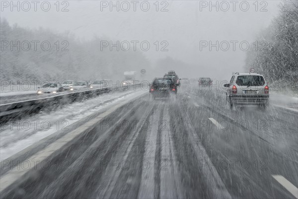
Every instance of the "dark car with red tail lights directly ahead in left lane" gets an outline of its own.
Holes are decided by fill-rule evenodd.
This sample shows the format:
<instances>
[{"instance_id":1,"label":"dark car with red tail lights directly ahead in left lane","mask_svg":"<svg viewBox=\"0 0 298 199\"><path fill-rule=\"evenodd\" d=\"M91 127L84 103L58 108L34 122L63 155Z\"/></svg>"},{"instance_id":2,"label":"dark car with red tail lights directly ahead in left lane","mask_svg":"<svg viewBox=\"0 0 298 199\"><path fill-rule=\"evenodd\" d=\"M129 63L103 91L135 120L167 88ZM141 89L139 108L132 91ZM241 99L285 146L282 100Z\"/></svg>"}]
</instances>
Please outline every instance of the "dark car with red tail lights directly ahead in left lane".
<instances>
[{"instance_id":1,"label":"dark car with red tail lights directly ahead in left lane","mask_svg":"<svg viewBox=\"0 0 298 199\"><path fill-rule=\"evenodd\" d=\"M177 85L172 78L155 78L149 89L153 98L169 97L171 94L177 96Z\"/></svg>"}]
</instances>

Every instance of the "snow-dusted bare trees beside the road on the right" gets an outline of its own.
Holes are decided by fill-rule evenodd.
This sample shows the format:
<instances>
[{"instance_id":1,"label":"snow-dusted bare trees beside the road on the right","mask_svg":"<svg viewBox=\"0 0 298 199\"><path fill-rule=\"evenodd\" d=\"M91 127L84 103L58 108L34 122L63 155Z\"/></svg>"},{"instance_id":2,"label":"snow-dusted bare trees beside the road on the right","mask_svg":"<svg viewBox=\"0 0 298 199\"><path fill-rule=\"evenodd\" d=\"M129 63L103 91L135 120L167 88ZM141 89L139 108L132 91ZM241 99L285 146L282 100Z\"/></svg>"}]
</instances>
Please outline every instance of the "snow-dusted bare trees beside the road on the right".
<instances>
[{"instance_id":1,"label":"snow-dusted bare trees beside the road on the right","mask_svg":"<svg viewBox=\"0 0 298 199\"><path fill-rule=\"evenodd\" d=\"M255 68L275 89L298 90L298 1L280 5L280 14L257 38L258 48L250 49L246 70Z\"/></svg>"}]
</instances>

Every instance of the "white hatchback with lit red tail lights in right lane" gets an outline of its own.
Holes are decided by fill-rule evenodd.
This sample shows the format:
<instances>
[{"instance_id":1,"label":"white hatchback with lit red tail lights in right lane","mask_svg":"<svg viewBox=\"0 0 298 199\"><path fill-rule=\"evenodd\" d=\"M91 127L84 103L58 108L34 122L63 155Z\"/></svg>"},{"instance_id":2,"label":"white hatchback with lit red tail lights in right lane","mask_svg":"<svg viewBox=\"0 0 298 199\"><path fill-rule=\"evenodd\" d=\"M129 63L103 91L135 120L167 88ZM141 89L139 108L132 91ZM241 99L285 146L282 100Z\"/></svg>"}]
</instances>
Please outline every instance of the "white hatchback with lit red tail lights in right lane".
<instances>
[{"instance_id":1,"label":"white hatchback with lit red tail lights in right lane","mask_svg":"<svg viewBox=\"0 0 298 199\"><path fill-rule=\"evenodd\" d=\"M234 105L259 105L266 108L269 104L269 87L263 75L259 73L238 73L230 79L226 100L230 107Z\"/></svg>"}]
</instances>

